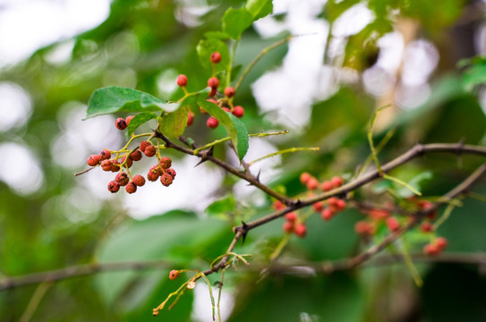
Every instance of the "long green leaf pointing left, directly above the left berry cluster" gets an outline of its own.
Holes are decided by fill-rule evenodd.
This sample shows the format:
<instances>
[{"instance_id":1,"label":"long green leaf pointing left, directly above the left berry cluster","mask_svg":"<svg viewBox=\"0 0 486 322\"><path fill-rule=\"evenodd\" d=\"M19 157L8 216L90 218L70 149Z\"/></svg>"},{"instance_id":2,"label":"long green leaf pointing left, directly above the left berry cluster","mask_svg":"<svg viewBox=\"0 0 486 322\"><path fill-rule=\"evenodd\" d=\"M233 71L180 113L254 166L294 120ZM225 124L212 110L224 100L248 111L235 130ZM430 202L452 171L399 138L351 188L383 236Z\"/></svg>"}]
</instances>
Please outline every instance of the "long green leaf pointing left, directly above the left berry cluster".
<instances>
[{"instance_id":1,"label":"long green leaf pointing left, directly above the left berry cluster","mask_svg":"<svg viewBox=\"0 0 486 322\"><path fill-rule=\"evenodd\" d=\"M174 110L175 106L178 105L167 103L140 90L110 86L93 92L84 119L116 112L160 112L166 109Z\"/></svg>"}]
</instances>

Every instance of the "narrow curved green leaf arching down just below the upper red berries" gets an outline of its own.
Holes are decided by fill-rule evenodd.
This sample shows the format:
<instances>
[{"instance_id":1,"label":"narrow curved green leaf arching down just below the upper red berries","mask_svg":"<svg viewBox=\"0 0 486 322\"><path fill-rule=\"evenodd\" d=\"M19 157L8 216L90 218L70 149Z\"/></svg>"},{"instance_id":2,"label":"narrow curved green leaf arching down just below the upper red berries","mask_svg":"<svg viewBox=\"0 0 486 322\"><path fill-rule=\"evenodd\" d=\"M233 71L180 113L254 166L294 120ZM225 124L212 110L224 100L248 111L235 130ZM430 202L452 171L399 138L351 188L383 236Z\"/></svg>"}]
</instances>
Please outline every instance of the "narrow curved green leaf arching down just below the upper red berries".
<instances>
[{"instance_id":1,"label":"narrow curved green leaf arching down just below the upper red berries","mask_svg":"<svg viewBox=\"0 0 486 322\"><path fill-rule=\"evenodd\" d=\"M229 137L233 141L234 148L240 158L243 159L246 151L248 150L248 131L244 124L234 117L233 114L227 113L221 107L216 104L203 100L198 102L206 112L216 117L217 121L223 125Z\"/></svg>"}]
</instances>

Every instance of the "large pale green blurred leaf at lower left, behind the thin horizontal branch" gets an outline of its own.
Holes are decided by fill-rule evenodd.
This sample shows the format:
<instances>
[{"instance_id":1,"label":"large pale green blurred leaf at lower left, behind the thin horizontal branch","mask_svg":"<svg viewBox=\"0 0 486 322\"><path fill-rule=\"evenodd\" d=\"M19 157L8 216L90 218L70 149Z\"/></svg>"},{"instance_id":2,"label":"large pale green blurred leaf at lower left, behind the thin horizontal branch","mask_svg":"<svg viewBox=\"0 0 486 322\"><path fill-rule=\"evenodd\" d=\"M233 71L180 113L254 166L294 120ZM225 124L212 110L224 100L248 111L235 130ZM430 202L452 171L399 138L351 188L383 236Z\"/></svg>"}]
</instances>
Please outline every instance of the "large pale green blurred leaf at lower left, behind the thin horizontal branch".
<instances>
[{"instance_id":1,"label":"large pale green blurred leaf at lower left, behind the thin horizontal branch","mask_svg":"<svg viewBox=\"0 0 486 322\"><path fill-rule=\"evenodd\" d=\"M101 243L97 258L99 262L166 259L187 264L197 256L195 254L204 254L214 236L225 229L226 224L220 220L201 220L181 211L153 216L132 222L119 233L112 234ZM138 275L135 271L98 275L103 300L113 303L128 290ZM147 292L152 292L156 287L158 284L153 284Z\"/></svg>"}]
</instances>

